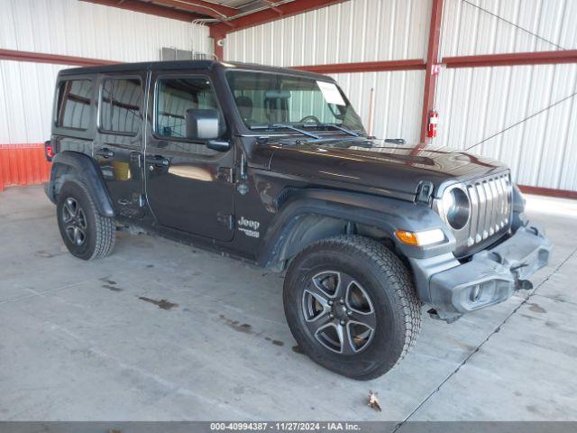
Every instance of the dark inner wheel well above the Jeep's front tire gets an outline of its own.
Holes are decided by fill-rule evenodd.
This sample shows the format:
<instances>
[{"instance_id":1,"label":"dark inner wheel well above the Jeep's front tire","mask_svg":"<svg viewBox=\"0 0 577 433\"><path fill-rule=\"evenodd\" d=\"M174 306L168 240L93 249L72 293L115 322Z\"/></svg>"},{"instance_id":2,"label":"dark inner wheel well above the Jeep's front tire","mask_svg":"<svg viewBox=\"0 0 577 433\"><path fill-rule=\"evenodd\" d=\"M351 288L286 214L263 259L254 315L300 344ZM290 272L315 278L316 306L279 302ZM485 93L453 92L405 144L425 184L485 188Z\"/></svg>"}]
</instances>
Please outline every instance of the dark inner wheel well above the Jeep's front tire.
<instances>
[{"instance_id":1,"label":"dark inner wheel well above the Jeep's front tire","mask_svg":"<svg viewBox=\"0 0 577 433\"><path fill-rule=\"evenodd\" d=\"M389 233L376 227L356 223L352 220L328 217L318 214L306 214L295 218L287 230L288 234L279 239L277 253L270 265L284 269L287 262L304 250L308 245L336 235L362 235L384 244L399 254Z\"/></svg>"}]
</instances>

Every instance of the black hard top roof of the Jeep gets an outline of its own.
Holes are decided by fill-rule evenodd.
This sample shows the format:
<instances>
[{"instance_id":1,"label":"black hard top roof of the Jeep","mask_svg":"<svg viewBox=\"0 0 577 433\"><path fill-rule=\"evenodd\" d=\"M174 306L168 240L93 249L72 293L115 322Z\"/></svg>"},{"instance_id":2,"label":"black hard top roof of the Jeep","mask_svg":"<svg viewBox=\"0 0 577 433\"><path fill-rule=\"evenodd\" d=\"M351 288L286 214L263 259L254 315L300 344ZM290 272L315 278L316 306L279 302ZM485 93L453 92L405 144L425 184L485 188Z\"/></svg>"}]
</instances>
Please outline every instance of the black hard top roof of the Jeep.
<instances>
[{"instance_id":1,"label":"black hard top roof of the Jeep","mask_svg":"<svg viewBox=\"0 0 577 433\"><path fill-rule=\"evenodd\" d=\"M305 70L276 68L273 66L259 65L256 63L241 63L236 61L215 61L215 60L169 60L169 61L144 61L140 63L118 63L115 65L90 66L87 68L62 69L60 76L82 75L82 74L103 74L109 72L133 72L137 70L186 70L186 69L214 69L220 67L224 69L250 69L263 72L277 72L290 75L297 75L308 78L331 79L325 75L307 72Z\"/></svg>"}]
</instances>

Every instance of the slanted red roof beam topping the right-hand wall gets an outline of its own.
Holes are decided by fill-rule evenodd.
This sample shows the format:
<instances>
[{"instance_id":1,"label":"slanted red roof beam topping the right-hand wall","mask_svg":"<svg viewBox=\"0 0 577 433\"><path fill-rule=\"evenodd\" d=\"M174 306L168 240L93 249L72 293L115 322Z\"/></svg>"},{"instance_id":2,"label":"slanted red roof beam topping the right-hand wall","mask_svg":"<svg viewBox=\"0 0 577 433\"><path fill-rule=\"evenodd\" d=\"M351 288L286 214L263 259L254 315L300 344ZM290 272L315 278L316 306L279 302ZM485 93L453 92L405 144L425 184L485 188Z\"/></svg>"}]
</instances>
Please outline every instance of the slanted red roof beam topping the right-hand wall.
<instances>
[{"instance_id":1,"label":"slanted red roof beam topping the right-hand wall","mask_svg":"<svg viewBox=\"0 0 577 433\"><path fill-rule=\"evenodd\" d=\"M210 35L211 37L214 37L213 34L237 32L255 25L270 23L271 21L278 20L280 16L286 18L292 15L303 14L321 7L335 5L343 1L346 0L294 0L293 2L285 3L283 5L277 5L274 10L268 8L231 20L228 23L233 24L232 27L227 26L225 23L213 24L210 26Z\"/></svg>"}]
</instances>

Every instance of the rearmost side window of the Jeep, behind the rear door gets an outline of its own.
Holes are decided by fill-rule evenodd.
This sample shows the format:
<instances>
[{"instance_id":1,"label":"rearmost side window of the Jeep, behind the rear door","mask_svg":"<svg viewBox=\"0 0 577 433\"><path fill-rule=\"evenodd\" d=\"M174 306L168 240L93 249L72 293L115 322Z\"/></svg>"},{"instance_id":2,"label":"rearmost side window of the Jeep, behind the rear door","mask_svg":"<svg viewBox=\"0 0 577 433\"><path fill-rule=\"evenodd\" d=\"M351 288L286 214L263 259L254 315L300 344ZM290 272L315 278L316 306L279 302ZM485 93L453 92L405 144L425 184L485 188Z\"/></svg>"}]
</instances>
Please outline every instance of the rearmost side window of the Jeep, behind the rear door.
<instances>
[{"instance_id":1,"label":"rearmost side window of the Jeep, behind the rear door","mask_svg":"<svg viewBox=\"0 0 577 433\"><path fill-rule=\"evenodd\" d=\"M58 90L56 125L62 128L86 131L90 124L92 80L62 81Z\"/></svg>"}]
</instances>

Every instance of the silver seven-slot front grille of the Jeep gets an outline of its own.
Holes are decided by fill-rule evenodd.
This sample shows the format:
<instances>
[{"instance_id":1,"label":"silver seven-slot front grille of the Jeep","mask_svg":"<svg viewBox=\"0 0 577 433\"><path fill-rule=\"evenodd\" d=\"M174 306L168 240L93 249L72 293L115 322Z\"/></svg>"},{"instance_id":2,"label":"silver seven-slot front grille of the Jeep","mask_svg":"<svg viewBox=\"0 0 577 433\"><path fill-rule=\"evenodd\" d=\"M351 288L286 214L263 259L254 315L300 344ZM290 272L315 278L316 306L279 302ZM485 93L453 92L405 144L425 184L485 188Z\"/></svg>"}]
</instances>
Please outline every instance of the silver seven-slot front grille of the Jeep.
<instances>
[{"instance_id":1,"label":"silver seven-slot front grille of the Jeep","mask_svg":"<svg viewBox=\"0 0 577 433\"><path fill-rule=\"evenodd\" d=\"M474 180L466 185L471 200L467 247L481 244L508 230L511 217L511 181L509 174Z\"/></svg>"}]
</instances>

